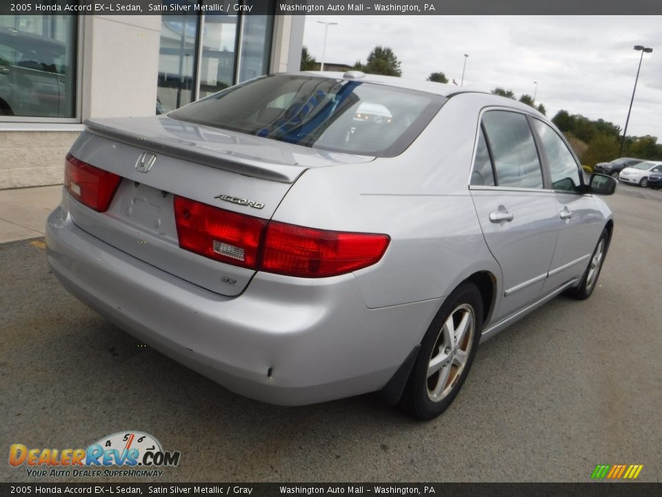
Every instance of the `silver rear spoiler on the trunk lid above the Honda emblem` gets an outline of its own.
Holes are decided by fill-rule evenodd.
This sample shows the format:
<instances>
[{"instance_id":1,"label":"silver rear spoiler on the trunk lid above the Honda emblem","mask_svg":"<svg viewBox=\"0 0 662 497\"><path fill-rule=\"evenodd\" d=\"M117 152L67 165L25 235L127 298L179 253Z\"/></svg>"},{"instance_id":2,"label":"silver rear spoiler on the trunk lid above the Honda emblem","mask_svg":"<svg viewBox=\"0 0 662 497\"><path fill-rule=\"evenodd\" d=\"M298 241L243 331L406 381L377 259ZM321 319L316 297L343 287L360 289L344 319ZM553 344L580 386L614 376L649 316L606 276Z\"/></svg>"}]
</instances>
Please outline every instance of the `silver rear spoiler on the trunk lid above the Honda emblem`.
<instances>
[{"instance_id":1,"label":"silver rear spoiler on the trunk lid above the Honda emblem","mask_svg":"<svg viewBox=\"0 0 662 497\"><path fill-rule=\"evenodd\" d=\"M90 133L104 138L110 138L117 142L163 153L177 159L196 162L204 166L227 170L230 173L268 179L274 182L292 184L307 169L303 166L286 164L284 162L263 162L237 155L230 151L223 152L220 150L192 148L186 142L178 143L154 137L148 138L130 130L101 124L92 119L87 119L83 124L87 126Z\"/></svg>"}]
</instances>

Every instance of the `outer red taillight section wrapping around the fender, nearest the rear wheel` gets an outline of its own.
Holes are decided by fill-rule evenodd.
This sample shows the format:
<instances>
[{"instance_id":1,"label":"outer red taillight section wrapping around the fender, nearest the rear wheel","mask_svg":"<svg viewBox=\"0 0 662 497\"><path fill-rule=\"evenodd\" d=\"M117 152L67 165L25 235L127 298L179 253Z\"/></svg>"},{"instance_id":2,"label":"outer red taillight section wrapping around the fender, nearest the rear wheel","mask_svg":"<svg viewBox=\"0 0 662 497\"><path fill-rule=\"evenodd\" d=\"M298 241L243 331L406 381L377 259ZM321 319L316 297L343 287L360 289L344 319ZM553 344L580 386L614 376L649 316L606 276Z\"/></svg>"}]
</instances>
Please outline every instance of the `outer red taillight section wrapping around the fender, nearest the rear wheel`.
<instances>
[{"instance_id":1,"label":"outer red taillight section wrapping around the fender, nearest the rear wheel","mask_svg":"<svg viewBox=\"0 0 662 497\"><path fill-rule=\"evenodd\" d=\"M388 235L377 233L344 233L270 222L259 269L301 277L350 273L378 262L389 242Z\"/></svg>"}]
</instances>

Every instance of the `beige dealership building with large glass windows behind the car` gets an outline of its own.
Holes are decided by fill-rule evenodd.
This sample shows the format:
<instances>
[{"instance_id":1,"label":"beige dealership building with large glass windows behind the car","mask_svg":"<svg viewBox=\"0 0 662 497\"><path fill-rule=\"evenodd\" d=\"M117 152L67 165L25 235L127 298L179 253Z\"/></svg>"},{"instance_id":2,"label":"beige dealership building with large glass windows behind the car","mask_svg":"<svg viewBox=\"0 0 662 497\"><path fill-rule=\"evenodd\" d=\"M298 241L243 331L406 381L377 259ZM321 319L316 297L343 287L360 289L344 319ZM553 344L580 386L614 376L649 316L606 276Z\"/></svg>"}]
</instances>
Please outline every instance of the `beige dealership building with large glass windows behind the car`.
<instances>
[{"instance_id":1,"label":"beige dealership building with large glass windows behind the car","mask_svg":"<svg viewBox=\"0 0 662 497\"><path fill-rule=\"evenodd\" d=\"M208 0L179 0L203 4ZM267 12L274 12L275 1ZM0 189L59 184L94 117L165 113L299 69L302 15L0 15Z\"/></svg>"}]
</instances>

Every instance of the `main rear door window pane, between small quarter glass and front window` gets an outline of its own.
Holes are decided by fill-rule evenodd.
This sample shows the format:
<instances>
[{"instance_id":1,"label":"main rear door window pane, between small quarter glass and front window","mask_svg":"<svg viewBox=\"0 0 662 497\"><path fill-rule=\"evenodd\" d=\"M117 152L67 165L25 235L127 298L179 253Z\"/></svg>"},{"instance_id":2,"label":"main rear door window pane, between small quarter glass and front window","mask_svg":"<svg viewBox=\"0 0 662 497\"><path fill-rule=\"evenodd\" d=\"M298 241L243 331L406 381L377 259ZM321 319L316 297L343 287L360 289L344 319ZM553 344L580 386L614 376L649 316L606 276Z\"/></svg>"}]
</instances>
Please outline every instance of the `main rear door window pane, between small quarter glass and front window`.
<instances>
[{"instance_id":1,"label":"main rear door window pane, between small quarter glass and front window","mask_svg":"<svg viewBox=\"0 0 662 497\"><path fill-rule=\"evenodd\" d=\"M543 188L543 173L523 114L490 110L483 115L496 170L496 184L513 188Z\"/></svg>"}]
</instances>

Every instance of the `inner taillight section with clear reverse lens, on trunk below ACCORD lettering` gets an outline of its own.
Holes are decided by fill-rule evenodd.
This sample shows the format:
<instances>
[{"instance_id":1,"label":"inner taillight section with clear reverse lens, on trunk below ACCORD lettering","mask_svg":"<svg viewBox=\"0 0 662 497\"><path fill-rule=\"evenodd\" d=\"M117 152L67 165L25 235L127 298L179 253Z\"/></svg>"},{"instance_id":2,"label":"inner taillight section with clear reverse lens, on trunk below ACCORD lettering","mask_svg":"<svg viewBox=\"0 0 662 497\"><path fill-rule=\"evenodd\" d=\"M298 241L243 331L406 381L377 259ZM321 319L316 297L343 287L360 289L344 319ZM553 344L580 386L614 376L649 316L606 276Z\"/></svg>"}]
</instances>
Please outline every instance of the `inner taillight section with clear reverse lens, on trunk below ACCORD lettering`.
<instances>
[{"instance_id":1,"label":"inner taillight section with clear reverse lens, on trunk below ACCORD lettering","mask_svg":"<svg viewBox=\"0 0 662 497\"><path fill-rule=\"evenodd\" d=\"M219 261L254 269L267 222L183 197L174 197L179 246Z\"/></svg>"}]
</instances>

